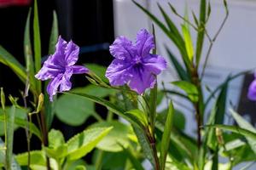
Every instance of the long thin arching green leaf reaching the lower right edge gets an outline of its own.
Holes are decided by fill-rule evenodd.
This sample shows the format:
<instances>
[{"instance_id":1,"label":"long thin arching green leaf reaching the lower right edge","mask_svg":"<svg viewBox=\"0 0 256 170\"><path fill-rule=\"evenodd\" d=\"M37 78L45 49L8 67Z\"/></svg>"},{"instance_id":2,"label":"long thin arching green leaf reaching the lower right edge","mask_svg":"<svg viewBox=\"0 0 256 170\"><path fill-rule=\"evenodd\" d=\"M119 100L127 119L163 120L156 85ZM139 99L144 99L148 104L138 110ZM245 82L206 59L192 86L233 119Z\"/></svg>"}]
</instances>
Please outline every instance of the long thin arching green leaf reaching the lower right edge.
<instances>
[{"instance_id":1,"label":"long thin arching green leaf reaching the lower right edge","mask_svg":"<svg viewBox=\"0 0 256 170\"><path fill-rule=\"evenodd\" d=\"M253 140L256 140L256 133L252 132L252 131L249 131L245 128L241 128L241 127L236 127L236 126L229 126L229 125L207 125L206 127L218 127L218 128L221 128L221 129L224 129L224 130L228 130L228 131L231 131L233 133L238 133L238 134L241 134L247 138L251 138Z\"/></svg>"}]
</instances>

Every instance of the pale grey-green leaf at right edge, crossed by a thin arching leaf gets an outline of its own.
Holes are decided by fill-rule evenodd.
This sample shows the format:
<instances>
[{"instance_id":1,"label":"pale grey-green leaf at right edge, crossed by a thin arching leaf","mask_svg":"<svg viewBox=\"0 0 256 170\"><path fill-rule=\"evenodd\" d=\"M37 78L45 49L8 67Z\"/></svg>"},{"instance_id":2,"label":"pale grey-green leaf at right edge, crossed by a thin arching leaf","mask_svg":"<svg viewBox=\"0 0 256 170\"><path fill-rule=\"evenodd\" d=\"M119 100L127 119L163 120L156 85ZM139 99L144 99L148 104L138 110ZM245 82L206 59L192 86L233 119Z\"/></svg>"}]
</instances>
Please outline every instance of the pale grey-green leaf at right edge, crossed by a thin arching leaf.
<instances>
[{"instance_id":1,"label":"pale grey-green leaf at right edge, crossed by a thin arching leaf","mask_svg":"<svg viewBox=\"0 0 256 170\"><path fill-rule=\"evenodd\" d=\"M239 125L239 127L247 129L253 133L256 133L256 129L253 127L253 125L251 125L249 122L247 122L244 118L242 118L242 116L240 116L239 114L236 113L236 111L230 110L232 116L234 117L234 119L236 120L237 124ZM251 138L247 138L248 144L251 146L253 152L255 153L256 156L256 140L255 139L251 139Z\"/></svg>"}]
</instances>

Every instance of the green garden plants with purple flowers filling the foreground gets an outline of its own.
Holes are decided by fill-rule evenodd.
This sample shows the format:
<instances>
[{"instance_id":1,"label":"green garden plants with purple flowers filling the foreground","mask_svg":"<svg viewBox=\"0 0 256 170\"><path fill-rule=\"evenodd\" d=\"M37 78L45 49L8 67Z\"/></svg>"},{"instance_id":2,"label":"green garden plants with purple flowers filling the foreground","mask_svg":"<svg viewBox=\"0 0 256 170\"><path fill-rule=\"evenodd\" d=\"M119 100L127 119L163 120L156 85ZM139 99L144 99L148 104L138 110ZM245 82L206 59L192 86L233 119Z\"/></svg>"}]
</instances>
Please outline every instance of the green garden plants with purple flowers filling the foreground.
<instances>
[{"instance_id":1,"label":"green garden plants with purple flowers filling the foreground","mask_svg":"<svg viewBox=\"0 0 256 170\"><path fill-rule=\"evenodd\" d=\"M241 162L246 163L243 169L255 163L256 128L235 111L236 106L229 105L227 98L230 81L250 71L230 74L215 89L203 84L212 46L218 42L228 20L226 1L224 18L213 36L207 31L211 1L201 0L199 14L188 10L184 15L171 3L165 4L168 11L158 4L162 18L140 3L133 3L152 20L151 29L138 30L135 41L125 35L116 37L109 46L113 61L105 68L92 63L76 65L79 46L59 35L55 12L49 55L42 58L38 6L34 2L24 33L26 65L0 46L0 62L24 83L24 88L17 87L18 97L7 97L1 88L0 168L231 170ZM189 20L189 14L193 20ZM174 24L172 17L183 22L181 27ZM159 44L166 47L168 56L158 54L155 27L174 44L178 56L172 54L168 44ZM195 42L191 31L197 34ZM202 56L203 48L207 48L206 56ZM158 81L160 73L170 67L176 71L178 80ZM84 77L89 85L72 88L71 77ZM171 84L176 88L166 88ZM189 114L195 116L195 138L185 133L186 122L192 120L186 120L182 111L176 109L172 96L186 99L192 105ZM256 100L255 81L248 88L247 97ZM165 109L159 111L163 103ZM106 116L96 112L96 105L107 108ZM224 124L227 114L236 125ZM54 116L73 127L89 117L96 121L65 140L60 130L52 128ZM27 151L14 154L14 132L18 127L26 131ZM31 150L32 137L41 141L41 150ZM87 155L90 160L84 159Z\"/></svg>"}]
</instances>

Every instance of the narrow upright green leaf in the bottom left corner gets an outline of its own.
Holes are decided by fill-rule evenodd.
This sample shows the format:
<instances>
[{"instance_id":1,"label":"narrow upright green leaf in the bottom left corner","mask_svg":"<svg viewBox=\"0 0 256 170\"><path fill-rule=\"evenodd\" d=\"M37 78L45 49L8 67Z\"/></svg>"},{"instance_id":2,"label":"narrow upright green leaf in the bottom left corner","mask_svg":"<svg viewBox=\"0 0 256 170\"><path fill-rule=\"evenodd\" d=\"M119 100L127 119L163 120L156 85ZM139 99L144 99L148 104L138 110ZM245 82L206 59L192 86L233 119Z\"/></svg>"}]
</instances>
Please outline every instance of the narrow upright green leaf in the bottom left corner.
<instances>
[{"instance_id":1,"label":"narrow upright green leaf in the bottom left corner","mask_svg":"<svg viewBox=\"0 0 256 170\"><path fill-rule=\"evenodd\" d=\"M12 169L15 110L16 110L16 107L15 105L13 105L11 107L11 111L9 112L9 114L6 114L7 116L6 168L7 169Z\"/></svg>"}]
</instances>

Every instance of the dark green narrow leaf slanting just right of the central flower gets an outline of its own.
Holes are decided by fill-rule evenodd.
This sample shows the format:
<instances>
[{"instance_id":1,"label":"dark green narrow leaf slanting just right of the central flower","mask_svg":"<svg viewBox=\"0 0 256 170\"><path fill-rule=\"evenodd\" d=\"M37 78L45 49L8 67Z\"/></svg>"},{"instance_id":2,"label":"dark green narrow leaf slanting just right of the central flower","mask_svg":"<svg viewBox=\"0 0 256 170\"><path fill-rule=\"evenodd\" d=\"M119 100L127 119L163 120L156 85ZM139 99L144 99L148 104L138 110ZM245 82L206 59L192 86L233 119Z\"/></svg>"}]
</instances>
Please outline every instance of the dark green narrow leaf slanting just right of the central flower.
<instances>
[{"instance_id":1,"label":"dark green narrow leaf slanting just right of the central flower","mask_svg":"<svg viewBox=\"0 0 256 170\"><path fill-rule=\"evenodd\" d=\"M187 71L185 69L183 69L183 66L178 62L176 57L172 54L172 52L167 47L166 47L166 52L172 61L172 65L174 66L175 70L177 71L178 77L183 81L190 82L190 78L187 74Z\"/></svg>"}]
</instances>

